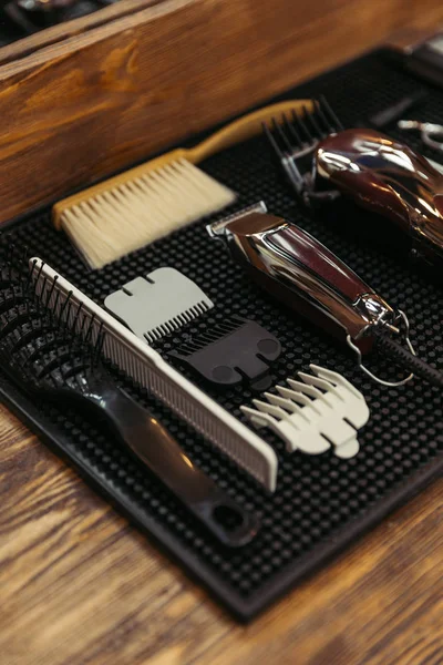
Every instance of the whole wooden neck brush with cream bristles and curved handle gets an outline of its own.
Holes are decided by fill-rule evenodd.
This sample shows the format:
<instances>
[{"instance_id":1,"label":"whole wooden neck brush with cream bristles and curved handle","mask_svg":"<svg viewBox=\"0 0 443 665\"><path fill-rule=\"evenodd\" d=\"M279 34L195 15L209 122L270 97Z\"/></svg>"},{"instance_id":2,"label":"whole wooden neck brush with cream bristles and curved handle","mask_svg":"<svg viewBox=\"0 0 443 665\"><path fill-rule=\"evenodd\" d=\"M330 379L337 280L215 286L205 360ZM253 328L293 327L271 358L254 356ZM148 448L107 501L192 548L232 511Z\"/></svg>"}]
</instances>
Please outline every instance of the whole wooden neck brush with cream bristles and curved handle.
<instances>
[{"instance_id":1,"label":"whole wooden neck brush with cream bristles and curved handle","mask_svg":"<svg viewBox=\"0 0 443 665\"><path fill-rule=\"evenodd\" d=\"M216 213L236 194L195 164L259 135L262 123L311 109L307 100L249 113L192 149L176 149L60 201L53 222L92 268L125 256L196 219Z\"/></svg>"}]
</instances>

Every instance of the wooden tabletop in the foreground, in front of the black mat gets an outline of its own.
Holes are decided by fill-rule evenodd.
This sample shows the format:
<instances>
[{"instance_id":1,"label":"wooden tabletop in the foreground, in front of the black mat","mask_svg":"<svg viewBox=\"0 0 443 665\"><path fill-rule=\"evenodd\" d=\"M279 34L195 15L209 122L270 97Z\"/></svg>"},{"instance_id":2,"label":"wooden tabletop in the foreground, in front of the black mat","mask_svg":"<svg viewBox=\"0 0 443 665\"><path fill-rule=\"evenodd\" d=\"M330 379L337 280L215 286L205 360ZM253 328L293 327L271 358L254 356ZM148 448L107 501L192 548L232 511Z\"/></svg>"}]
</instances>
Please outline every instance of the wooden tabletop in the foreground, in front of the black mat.
<instances>
[{"instance_id":1,"label":"wooden tabletop in the foreground, in front of the black mat","mask_svg":"<svg viewBox=\"0 0 443 665\"><path fill-rule=\"evenodd\" d=\"M441 665L443 482L244 627L0 411L2 665Z\"/></svg>"}]
</instances>

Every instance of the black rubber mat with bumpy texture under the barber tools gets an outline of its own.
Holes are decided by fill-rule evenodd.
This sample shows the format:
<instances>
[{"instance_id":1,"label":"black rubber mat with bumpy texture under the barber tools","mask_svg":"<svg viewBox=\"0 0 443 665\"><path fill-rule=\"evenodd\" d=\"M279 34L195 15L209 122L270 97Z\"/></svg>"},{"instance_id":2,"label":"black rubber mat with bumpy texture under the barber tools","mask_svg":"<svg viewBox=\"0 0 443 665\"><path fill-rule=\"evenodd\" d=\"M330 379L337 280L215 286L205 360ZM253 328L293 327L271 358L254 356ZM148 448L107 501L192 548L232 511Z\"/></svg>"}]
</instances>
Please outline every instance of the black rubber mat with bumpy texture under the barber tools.
<instances>
[{"instance_id":1,"label":"black rubber mat with bumpy texture under the barber tools","mask_svg":"<svg viewBox=\"0 0 443 665\"><path fill-rule=\"evenodd\" d=\"M412 76L391 68L382 53L372 53L285 96L323 93L343 124L351 126L419 86ZM442 91L430 89L420 116L443 122ZM396 131L391 133L400 137ZM408 135L411 140L419 149L419 140ZM384 222L342 205L316 221L309 219L297 209L278 176L262 136L208 160L203 168L239 193L237 207L264 200L270 212L287 216L316 235L390 304L408 313L418 354L443 369L443 286L408 262L405 248L398 237L391 237ZM307 370L309 362L315 362L342 372L363 392L371 419L360 432L360 453L351 460L329 453L288 454L276 437L260 430L279 456L278 487L269 495L166 408L122 380L123 387L155 411L220 487L259 515L261 530L249 545L237 551L224 549L100 423L87 421L68 405L58 409L30 403L6 379L1 379L0 388L6 403L53 449L73 462L83 477L166 548L237 617L249 620L441 474L441 395L420 380L396 389L370 381L356 369L347 349L249 283L223 244L208 238L206 223L196 223L95 273L83 266L64 234L53 229L49 211L13 223L10 231L18 242L29 246L30 256L41 256L99 304L138 275L161 266L177 268L215 303L215 308L187 331L210 328L228 315L250 317L281 341L284 351L272 366L274 382ZM156 348L166 352L179 340L181 335L173 335ZM382 358L374 356L370 364L384 378L395 376ZM250 403L253 398L243 388L207 391L239 418L239 406Z\"/></svg>"}]
</instances>

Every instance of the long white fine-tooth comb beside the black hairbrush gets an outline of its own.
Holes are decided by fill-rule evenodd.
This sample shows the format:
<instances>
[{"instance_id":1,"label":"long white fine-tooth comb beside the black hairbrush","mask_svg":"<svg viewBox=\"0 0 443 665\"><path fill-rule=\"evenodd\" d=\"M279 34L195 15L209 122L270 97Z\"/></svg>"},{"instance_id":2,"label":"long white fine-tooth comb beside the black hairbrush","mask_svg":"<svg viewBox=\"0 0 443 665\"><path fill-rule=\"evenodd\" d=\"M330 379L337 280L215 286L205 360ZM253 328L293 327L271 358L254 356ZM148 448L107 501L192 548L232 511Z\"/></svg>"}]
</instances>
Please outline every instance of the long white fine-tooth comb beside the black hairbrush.
<instances>
[{"instance_id":1,"label":"long white fine-tooth comb beside the black hairbrush","mask_svg":"<svg viewBox=\"0 0 443 665\"><path fill-rule=\"evenodd\" d=\"M91 341L95 342L99 334L104 334L102 354L106 359L163 401L266 489L275 491L277 457L268 443L40 258L31 258L30 267L37 294L47 294L49 309L58 314L68 303L68 327L74 323L74 308L82 303L85 325L93 319Z\"/></svg>"}]
</instances>

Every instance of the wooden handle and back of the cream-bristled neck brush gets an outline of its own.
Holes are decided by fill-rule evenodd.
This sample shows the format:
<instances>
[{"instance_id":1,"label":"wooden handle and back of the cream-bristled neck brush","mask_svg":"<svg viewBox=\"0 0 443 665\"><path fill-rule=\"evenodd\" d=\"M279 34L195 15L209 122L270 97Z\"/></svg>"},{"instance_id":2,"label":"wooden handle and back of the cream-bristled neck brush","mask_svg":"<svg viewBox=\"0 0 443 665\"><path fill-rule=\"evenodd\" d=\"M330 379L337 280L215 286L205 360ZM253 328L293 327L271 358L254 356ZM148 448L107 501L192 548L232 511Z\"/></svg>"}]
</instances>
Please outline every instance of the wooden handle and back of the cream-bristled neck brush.
<instances>
[{"instance_id":1,"label":"wooden handle and back of the cream-bristled neck brush","mask_svg":"<svg viewBox=\"0 0 443 665\"><path fill-rule=\"evenodd\" d=\"M206 157L209 157L210 155L214 155L215 153L225 150L230 145L235 145L236 143L251 139L253 136L257 136L257 134L260 134L262 131L261 123L269 122L272 117L276 117L278 121L281 119L282 113L290 113L291 111L300 113L302 109L311 111L311 100L290 100L286 102L279 102L278 104L271 104L270 106L264 106L258 111L253 111L253 113L248 113L247 115L235 120L230 124L226 125L226 127L223 127L223 130L219 130L209 136L209 139L206 139L195 147L178 147L164 155L155 157L154 160L151 160L151 162L135 166L134 168L125 171L124 173L121 173L107 181L99 183L97 185L93 185L83 192L79 192L78 194L73 194L68 198L59 201L59 203L56 203L52 208L52 221L54 226L58 229L61 228L63 214L73 206L76 206L83 202L87 202L100 194L104 194L110 192L110 190L114 190L115 187L121 187L127 183L132 183L135 178L142 177L143 175L146 175L152 171L156 171L157 168L162 168L163 166L167 166L168 164L177 162L178 160L187 160L193 164L197 164Z\"/></svg>"}]
</instances>

